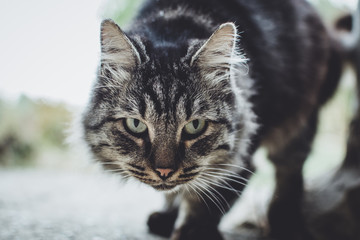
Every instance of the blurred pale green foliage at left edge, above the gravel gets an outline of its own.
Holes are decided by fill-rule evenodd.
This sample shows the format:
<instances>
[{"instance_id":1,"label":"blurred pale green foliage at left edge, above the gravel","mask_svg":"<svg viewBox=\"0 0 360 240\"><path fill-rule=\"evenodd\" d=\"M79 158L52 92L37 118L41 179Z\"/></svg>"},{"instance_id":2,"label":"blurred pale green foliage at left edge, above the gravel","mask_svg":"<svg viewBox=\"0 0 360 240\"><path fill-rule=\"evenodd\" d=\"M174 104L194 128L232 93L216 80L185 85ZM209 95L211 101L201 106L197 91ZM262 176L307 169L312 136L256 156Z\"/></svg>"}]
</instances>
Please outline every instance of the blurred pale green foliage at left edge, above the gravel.
<instances>
[{"instance_id":1,"label":"blurred pale green foliage at left edge, above the gravel","mask_svg":"<svg viewBox=\"0 0 360 240\"><path fill-rule=\"evenodd\" d=\"M65 149L64 129L70 117L61 104L25 96L16 103L0 99L0 165L32 165L47 149Z\"/></svg>"}]
</instances>

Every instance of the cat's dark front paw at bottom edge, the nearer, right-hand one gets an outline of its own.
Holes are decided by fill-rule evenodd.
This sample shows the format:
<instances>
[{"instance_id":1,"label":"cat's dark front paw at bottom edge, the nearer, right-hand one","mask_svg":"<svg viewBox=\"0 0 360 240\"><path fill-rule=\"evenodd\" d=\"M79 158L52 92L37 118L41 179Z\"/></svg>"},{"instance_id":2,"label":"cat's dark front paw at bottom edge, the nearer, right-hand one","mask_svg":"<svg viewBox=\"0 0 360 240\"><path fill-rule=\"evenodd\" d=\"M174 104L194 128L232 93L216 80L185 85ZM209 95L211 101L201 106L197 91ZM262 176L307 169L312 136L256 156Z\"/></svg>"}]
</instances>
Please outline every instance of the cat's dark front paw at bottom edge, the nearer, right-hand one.
<instances>
[{"instance_id":1,"label":"cat's dark front paw at bottom edge, the nearer, right-hand one","mask_svg":"<svg viewBox=\"0 0 360 240\"><path fill-rule=\"evenodd\" d=\"M201 223L186 224L175 229L171 240L223 240L217 225L204 225Z\"/></svg>"}]
</instances>

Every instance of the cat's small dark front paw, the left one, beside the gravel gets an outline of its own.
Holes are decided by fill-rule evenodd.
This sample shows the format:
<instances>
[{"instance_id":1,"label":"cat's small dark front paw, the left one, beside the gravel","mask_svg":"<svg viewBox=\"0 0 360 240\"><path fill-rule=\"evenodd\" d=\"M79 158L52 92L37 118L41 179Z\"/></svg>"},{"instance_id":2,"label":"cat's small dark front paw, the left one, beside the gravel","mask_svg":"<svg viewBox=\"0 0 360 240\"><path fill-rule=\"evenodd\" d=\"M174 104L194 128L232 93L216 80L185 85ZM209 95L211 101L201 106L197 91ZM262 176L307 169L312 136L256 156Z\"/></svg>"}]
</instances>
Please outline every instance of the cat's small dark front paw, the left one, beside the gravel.
<instances>
[{"instance_id":1,"label":"cat's small dark front paw, the left one, beside the gravel","mask_svg":"<svg viewBox=\"0 0 360 240\"><path fill-rule=\"evenodd\" d=\"M170 237L177 214L174 212L154 212L147 221L150 232L163 237Z\"/></svg>"}]
</instances>

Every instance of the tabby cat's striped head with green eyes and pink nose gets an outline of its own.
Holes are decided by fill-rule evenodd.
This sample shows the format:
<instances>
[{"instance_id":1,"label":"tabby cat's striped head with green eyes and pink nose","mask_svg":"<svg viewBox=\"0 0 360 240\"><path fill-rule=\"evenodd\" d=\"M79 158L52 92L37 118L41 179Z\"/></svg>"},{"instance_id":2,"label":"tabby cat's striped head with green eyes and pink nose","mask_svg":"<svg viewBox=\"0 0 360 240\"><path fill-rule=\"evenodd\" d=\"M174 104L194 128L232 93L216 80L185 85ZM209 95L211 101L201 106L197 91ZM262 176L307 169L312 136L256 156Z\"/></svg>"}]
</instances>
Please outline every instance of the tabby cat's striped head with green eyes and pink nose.
<instances>
[{"instance_id":1,"label":"tabby cat's striped head with green eyes and pink nose","mask_svg":"<svg viewBox=\"0 0 360 240\"><path fill-rule=\"evenodd\" d=\"M210 181L246 154L255 124L235 82L245 78L245 60L234 24L174 45L130 37L105 20L101 54L83 124L105 168L170 190Z\"/></svg>"}]
</instances>

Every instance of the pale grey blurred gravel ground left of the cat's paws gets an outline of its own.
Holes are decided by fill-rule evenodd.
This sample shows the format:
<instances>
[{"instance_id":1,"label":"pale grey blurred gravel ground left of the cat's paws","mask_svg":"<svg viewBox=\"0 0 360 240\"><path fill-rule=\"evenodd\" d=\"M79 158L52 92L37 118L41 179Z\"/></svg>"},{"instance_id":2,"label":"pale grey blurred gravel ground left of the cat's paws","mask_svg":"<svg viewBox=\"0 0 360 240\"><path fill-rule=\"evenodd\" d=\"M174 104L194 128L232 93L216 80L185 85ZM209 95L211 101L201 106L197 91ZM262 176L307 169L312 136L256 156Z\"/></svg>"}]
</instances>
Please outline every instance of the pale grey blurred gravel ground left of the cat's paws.
<instances>
[{"instance_id":1,"label":"pale grey blurred gravel ground left of the cat's paws","mask_svg":"<svg viewBox=\"0 0 360 240\"><path fill-rule=\"evenodd\" d=\"M148 187L103 174L0 170L0 239L162 240L146 226L162 203ZM225 238L259 239L251 235Z\"/></svg>"}]
</instances>

